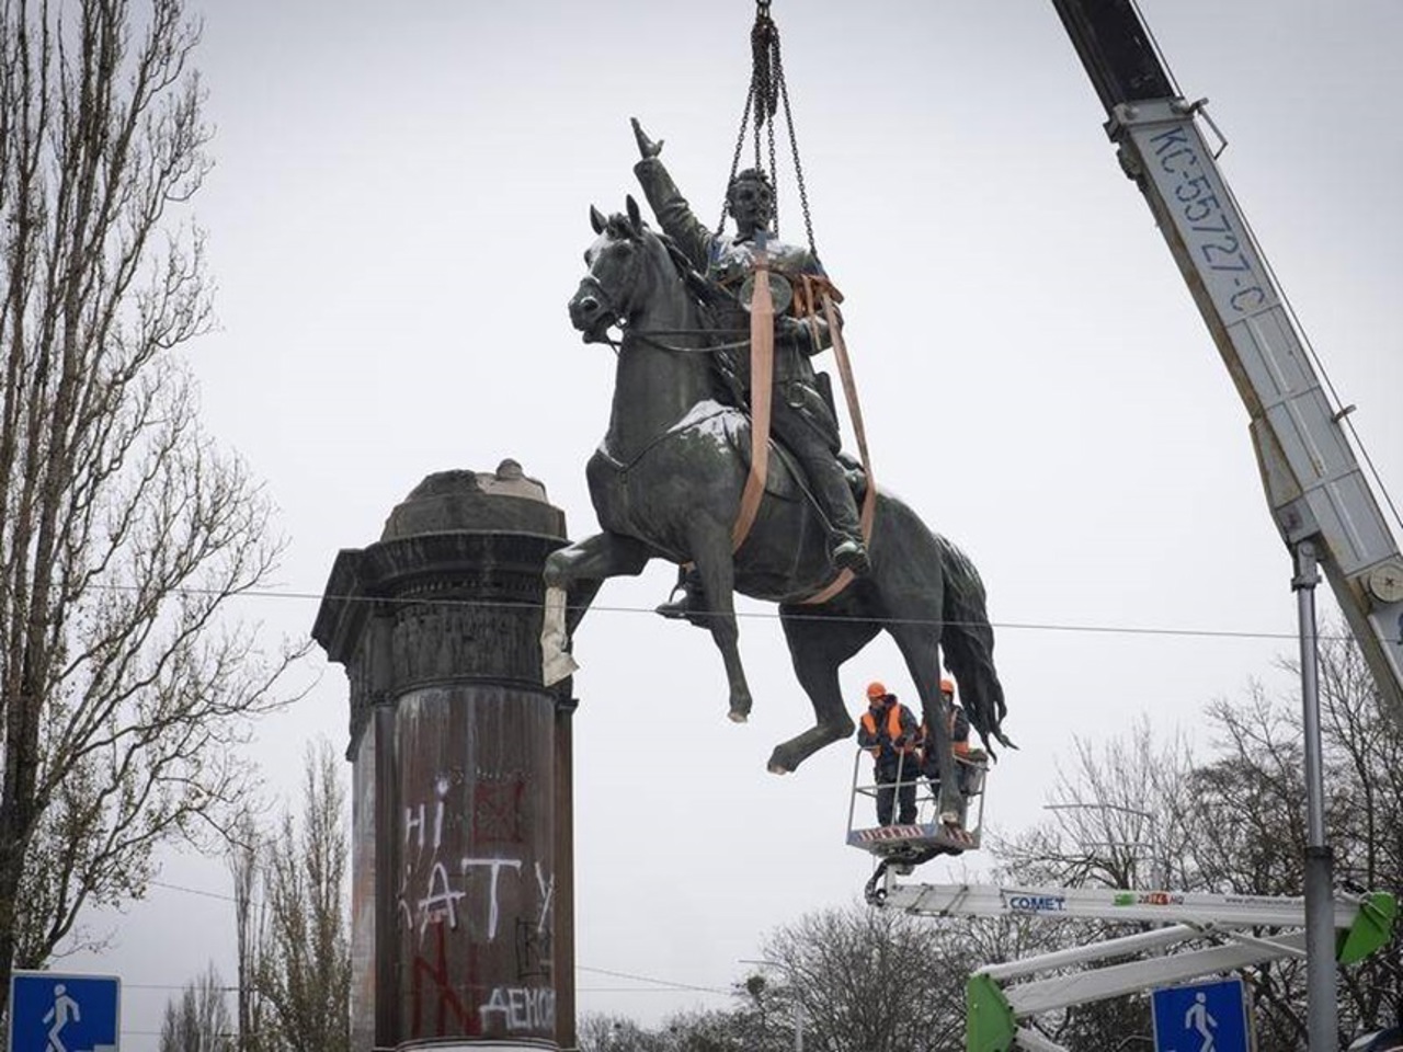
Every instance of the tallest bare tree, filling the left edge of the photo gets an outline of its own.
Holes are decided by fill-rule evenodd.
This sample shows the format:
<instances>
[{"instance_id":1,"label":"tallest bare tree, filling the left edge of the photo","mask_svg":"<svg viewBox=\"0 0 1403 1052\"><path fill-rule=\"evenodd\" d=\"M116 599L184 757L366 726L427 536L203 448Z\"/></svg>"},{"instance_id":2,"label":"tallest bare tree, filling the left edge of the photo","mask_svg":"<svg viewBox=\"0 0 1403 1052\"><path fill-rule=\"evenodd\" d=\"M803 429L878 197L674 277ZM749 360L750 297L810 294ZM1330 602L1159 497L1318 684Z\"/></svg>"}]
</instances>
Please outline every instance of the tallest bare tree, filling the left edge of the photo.
<instances>
[{"instance_id":1,"label":"tallest bare tree, filling the left edge of the photo","mask_svg":"<svg viewBox=\"0 0 1403 1052\"><path fill-rule=\"evenodd\" d=\"M0 1009L222 822L290 658L226 620L279 546L177 356L210 324L196 42L182 0L0 0Z\"/></svg>"}]
</instances>

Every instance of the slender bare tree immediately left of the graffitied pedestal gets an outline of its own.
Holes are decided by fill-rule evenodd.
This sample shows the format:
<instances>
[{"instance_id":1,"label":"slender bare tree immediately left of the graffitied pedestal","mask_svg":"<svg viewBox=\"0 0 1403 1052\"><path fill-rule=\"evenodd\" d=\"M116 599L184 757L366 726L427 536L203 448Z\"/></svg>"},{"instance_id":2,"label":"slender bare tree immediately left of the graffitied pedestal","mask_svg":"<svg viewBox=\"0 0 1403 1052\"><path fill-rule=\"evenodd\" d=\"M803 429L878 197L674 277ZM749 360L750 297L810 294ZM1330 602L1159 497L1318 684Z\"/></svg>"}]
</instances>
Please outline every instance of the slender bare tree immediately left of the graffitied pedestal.
<instances>
[{"instance_id":1,"label":"slender bare tree immediately left of the graffitied pedestal","mask_svg":"<svg viewBox=\"0 0 1403 1052\"><path fill-rule=\"evenodd\" d=\"M285 814L264 853L268 930L257 964L268 1025L290 1052L351 1046L345 790L321 741L307 753L302 821Z\"/></svg>"}]
</instances>

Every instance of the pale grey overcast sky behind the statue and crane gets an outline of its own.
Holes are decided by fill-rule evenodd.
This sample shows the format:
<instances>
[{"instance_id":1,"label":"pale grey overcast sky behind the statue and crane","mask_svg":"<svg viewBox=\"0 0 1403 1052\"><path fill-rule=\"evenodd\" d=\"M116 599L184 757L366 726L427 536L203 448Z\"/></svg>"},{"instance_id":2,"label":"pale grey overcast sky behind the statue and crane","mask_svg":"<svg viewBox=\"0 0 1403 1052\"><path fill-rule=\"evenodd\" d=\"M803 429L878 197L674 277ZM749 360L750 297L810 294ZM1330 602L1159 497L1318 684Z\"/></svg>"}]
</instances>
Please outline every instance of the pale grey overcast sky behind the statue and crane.
<instances>
[{"instance_id":1,"label":"pale grey overcast sky behind the statue and crane","mask_svg":"<svg viewBox=\"0 0 1403 1052\"><path fill-rule=\"evenodd\" d=\"M195 210L222 328L191 355L208 426L267 480L290 541L283 598L241 613L306 635L337 550L373 543L432 471L515 457L572 536L593 532L584 464L613 356L565 316L588 208L638 195L637 115L699 213L718 213L753 4L202 7L217 133ZM1403 492L1403 6L1143 7L1184 93L1209 97L1225 174ZM1253 676L1289 689L1273 662L1295 649L1291 564L1246 412L1051 3L773 14L875 471L988 585L1024 746L991 778L989 818L1012 832L1040 819L1073 735L1142 717L1193 734ZM801 240L788 182L780 209ZM724 989L763 931L853 901L870 871L842 843L850 749L765 773L812 718L773 610L745 606L756 700L737 727L710 638L645 613L672 575L606 586L577 645L579 1006L645 1023L723 999L607 972ZM873 677L913 697L874 644L843 670L854 713ZM316 735L342 748L345 725L345 677L325 668L260 729L269 794L293 787ZM109 954L73 962L123 976L128 1052L156 1048L166 987L210 958L233 973L223 867L177 857L159 879Z\"/></svg>"}]
</instances>

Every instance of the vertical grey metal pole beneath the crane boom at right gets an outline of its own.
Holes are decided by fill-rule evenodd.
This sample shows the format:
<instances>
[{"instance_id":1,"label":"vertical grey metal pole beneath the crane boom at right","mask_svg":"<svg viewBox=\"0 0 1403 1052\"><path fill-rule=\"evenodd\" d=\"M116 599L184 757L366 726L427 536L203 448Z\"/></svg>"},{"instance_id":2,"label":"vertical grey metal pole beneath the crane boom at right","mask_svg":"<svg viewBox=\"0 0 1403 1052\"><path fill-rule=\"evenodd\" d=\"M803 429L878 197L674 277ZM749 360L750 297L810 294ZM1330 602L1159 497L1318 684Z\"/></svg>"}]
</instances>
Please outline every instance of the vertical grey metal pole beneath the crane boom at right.
<instances>
[{"instance_id":1,"label":"vertical grey metal pole beneath the crane boom at right","mask_svg":"<svg viewBox=\"0 0 1403 1052\"><path fill-rule=\"evenodd\" d=\"M1315 588L1320 581L1315 544L1296 546L1296 593L1301 621L1301 704L1306 755L1306 1010L1310 1052L1338 1048L1334 980L1334 857L1324 832L1324 762L1320 745L1320 676L1316 651Z\"/></svg>"}]
</instances>

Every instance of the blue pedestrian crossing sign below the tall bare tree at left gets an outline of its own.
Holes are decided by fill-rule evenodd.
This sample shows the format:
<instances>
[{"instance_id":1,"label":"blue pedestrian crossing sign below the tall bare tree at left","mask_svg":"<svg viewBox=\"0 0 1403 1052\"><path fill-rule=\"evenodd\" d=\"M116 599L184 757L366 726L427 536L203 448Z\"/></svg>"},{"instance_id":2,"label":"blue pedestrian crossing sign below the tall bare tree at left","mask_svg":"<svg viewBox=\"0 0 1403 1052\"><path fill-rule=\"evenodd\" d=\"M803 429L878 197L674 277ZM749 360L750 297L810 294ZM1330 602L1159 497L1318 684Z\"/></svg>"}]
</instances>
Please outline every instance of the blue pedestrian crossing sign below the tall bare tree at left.
<instances>
[{"instance_id":1,"label":"blue pedestrian crossing sign below the tall bare tree at left","mask_svg":"<svg viewBox=\"0 0 1403 1052\"><path fill-rule=\"evenodd\" d=\"M116 976L15 972L8 1052L118 1052L121 1006Z\"/></svg>"}]
</instances>

